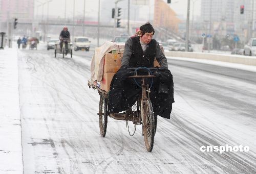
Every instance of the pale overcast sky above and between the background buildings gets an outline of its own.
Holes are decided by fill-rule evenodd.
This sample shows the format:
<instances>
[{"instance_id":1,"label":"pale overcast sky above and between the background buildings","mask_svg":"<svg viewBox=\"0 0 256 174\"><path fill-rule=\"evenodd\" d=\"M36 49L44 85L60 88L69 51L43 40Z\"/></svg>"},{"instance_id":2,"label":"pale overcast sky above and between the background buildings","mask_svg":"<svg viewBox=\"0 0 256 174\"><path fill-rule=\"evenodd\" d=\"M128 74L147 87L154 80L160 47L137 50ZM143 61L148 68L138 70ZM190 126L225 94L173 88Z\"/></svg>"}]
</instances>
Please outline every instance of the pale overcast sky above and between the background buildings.
<instances>
[{"instance_id":1,"label":"pale overcast sky above and between the background buildings","mask_svg":"<svg viewBox=\"0 0 256 174\"><path fill-rule=\"evenodd\" d=\"M38 2L46 2L47 0L35 0L35 15L37 15L37 9L38 9L38 15L41 15L42 13L42 6L39 6L40 3ZM67 1L67 16L71 17L73 16L73 5L74 5L74 0L52 0L49 3L49 15L53 16L64 16L65 12L65 1ZM102 2L102 0L100 0ZM125 0L127 1L127 0ZM132 2L133 0L131 0ZM167 3L167 0L163 0ZM75 15L83 15L83 0L75 0ZM191 13L190 13L190 18L192 16L193 12L193 2L195 2L194 7L195 7L195 16L200 15L200 4L201 0L190 0L190 7L191 7ZM154 0L151 0L151 5L154 4ZM172 0L172 4L169 5L172 7L175 12L178 15L186 17L186 11L187 11L187 0ZM57 7L57 8L56 8ZM113 3L114 7L114 3ZM144 7L143 9L148 9L148 6ZM108 12L108 10L111 9L104 9L104 7L101 7L101 13L103 12ZM152 11L154 8L152 8ZM45 15L47 14L47 5L44 6L44 12ZM86 0L86 16L97 16L98 15L98 1L97 0ZM141 14L140 14L141 15ZM145 14L148 15L148 14Z\"/></svg>"}]
</instances>

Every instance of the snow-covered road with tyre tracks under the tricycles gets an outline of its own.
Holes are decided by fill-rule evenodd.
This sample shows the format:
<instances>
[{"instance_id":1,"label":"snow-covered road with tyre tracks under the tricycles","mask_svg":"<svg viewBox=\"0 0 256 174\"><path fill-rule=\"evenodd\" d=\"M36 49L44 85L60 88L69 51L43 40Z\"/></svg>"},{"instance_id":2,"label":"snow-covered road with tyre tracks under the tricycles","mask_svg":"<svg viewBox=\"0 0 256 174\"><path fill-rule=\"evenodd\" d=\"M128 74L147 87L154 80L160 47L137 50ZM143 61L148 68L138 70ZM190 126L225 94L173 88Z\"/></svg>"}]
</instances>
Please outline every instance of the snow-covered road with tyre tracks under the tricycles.
<instances>
[{"instance_id":1,"label":"snow-covered road with tyre tracks under the tricycles","mask_svg":"<svg viewBox=\"0 0 256 174\"><path fill-rule=\"evenodd\" d=\"M215 73L216 66L206 71L198 63L181 66L168 59L175 103L169 120L158 119L148 153L141 126L131 137L125 121L110 118L106 137L100 137L99 95L87 86L91 55L18 54L25 174L256 173L255 81ZM250 150L200 151L203 145L226 144Z\"/></svg>"}]
</instances>

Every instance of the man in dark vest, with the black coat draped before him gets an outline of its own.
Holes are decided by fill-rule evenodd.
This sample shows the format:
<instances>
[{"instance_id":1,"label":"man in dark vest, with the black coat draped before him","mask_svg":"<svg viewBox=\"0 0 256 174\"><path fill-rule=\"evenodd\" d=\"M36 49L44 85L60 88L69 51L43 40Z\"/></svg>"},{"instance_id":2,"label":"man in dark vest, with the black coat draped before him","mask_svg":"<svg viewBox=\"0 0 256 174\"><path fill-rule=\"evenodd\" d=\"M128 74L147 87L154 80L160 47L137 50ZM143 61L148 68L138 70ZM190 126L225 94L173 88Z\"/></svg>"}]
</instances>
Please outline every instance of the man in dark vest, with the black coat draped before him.
<instances>
[{"instance_id":1,"label":"man in dark vest, with the black coat draped before him","mask_svg":"<svg viewBox=\"0 0 256 174\"><path fill-rule=\"evenodd\" d=\"M134 73L129 68L154 67L156 58L161 68L153 71L156 78L153 79L154 83L150 89L150 100L155 117L159 115L170 118L174 103L173 76L168 70L167 59L161 51L159 43L153 39L154 33L153 26L147 22L140 27L139 36L131 37L126 41L121 68L111 82L108 105L110 113L130 109L141 92L133 79L127 79Z\"/></svg>"}]
</instances>

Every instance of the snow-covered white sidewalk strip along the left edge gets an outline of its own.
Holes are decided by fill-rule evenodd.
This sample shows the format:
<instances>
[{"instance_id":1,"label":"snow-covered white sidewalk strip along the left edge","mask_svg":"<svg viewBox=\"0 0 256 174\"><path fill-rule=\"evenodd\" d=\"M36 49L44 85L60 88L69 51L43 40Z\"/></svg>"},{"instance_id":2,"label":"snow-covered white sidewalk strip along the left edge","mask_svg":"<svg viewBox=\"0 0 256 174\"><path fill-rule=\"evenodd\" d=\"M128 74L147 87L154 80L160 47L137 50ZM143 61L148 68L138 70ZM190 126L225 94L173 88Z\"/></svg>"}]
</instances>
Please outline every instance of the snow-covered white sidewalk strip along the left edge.
<instances>
[{"instance_id":1,"label":"snow-covered white sidewalk strip along the left edge","mask_svg":"<svg viewBox=\"0 0 256 174\"><path fill-rule=\"evenodd\" d=\"M0 173L23 173L17 49L0 49Z\"/></svg>"}]
</instances>

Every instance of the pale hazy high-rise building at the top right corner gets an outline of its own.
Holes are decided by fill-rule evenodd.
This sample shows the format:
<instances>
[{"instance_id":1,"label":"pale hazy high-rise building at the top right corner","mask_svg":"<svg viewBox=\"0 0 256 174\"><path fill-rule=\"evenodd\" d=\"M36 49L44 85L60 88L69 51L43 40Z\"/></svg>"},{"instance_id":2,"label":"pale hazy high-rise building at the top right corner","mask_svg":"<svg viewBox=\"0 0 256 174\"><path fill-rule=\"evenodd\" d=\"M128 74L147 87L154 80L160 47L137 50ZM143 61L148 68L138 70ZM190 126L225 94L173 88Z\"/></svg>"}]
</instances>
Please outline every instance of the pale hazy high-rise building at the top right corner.
<instances>
[{"instance_id":1,"label":"pale hazy high-rise building at the top right corner","mask_svg":"<svg viewBox=\"0 0 256 174\"><path fill-rule=\"evenodd\" d=\"M244 13L240 7L244 6ZM221 36L238 35L241 41L255 37L256 2L253 0L201 0L201 23L209 30L211 11L211 33Z\"/></svg>"}]
</instances>

